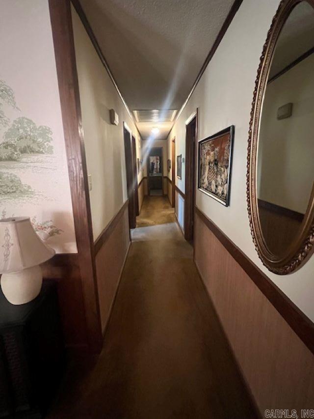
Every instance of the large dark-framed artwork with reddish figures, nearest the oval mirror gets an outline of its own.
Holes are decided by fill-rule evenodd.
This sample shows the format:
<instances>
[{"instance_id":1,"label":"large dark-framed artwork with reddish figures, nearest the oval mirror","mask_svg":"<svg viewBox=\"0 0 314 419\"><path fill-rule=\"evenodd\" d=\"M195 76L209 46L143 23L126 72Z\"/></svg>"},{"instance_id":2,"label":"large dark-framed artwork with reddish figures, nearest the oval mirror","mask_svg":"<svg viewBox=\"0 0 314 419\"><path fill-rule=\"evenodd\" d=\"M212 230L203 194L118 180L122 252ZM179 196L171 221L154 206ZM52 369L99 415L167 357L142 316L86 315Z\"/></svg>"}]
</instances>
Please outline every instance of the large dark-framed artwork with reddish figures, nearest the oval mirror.
<instances>
[{"instance_id":1,"label":"large dark-framed artwork with reddish figures, nearest the oval mirror","mask_svg":"<svg viewBox=\"0 0 314 419\"><path fill-rule=\"evenodd\" d=\"M229 205L235 126L198 143L198 189L226 207Z\"/></svg>"}]
</instances>

